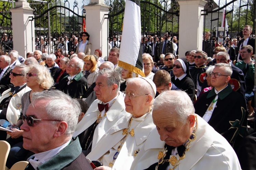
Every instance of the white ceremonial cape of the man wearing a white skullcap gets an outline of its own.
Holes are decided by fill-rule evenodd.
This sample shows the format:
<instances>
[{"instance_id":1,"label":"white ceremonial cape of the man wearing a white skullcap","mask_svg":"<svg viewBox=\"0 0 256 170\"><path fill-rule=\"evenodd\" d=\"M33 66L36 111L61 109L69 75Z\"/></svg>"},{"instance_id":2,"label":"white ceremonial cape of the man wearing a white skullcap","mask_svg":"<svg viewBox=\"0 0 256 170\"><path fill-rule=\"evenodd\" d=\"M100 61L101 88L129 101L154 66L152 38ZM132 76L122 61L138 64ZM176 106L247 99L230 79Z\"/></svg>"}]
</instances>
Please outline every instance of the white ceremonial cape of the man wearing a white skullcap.
<instances>
[{"instance_id":1,"label":"white ceremonial cape of the man wearing a white skullcap","mask_svg":"<svg viewBox=\"0 0 256 170\"><path fill-rule=\"evenodd\" d=\"M98 160L103 155L105 155L111 148L113 148L120 140L124 137L123 130L128 127L129 121L132 115L124 116L112 128L106 132L104 136L100 139L94 149L86 156L90 160ZM139 123L139 125L134 129L133 143L124 143L123 147L119 151L112 170L129 170L132 164L132 161L135 156L133 156L136 150L140 150L143 146L143 143L146 141L150 131L155 127L152 118L152 112L147 115L147 117ZM131 137L130 135L127 138ZM127 140L127 139L126 139ZM128 154L128 149L124 146L133 145L132 153ZM132 156L128 156L132 155ZM109 165L105 165L109 166Z\"/></svg>"}]
</instances>

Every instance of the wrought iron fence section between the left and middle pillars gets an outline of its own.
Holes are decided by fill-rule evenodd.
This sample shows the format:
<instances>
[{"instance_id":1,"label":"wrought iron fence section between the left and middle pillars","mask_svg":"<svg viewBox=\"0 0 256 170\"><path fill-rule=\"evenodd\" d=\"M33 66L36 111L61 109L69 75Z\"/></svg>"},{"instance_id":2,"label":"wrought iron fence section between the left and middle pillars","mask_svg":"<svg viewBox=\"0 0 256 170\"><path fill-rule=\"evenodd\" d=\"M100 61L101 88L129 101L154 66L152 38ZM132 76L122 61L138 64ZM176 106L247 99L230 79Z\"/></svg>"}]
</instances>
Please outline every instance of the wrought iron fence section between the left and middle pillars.
<instances>
[{"instance_id":1,"label":"wrought iron fence section between the left and middle pillars","mask_svg":"<svg viewBox=\"0 0 256 170\"><path fill-rule=\"evenodd\" d=\"M84 1L82 1L83 5ZM77 1L70 4L68 0L44 1L42 3L30 3L33 8L35 23L35 47L34 49L47 49L48 53L56 53L57 49L69 51L76 50L75 37L81 38L83 32L83 18L85 9ZM78 42L77 42L78 43ZM64 55L64 54L63 54Z\"/></svg>"}]
</instances>

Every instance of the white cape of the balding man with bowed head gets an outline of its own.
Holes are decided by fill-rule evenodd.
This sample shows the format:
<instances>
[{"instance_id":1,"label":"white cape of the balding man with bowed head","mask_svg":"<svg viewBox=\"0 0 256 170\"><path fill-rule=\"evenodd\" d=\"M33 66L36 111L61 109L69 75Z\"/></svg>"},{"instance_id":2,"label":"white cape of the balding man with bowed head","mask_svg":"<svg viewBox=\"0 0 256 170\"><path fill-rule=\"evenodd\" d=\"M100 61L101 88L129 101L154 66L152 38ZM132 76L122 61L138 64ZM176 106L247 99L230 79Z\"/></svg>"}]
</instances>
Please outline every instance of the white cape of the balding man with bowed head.
<instances>
[{"instance_id":1,"label":"white cape of the balding man with bowed head","mask_svg":"<svg viewBox=\"0 0 256 170\"><path fill-rule=\"evenodd\" d=\"M240 170L241 167L237 155L228 141L200 116L196 116L196 139L190 143L189 151L185 152L185 158L180 160L180 164L175 170ZM157 158L158 153L163 151L164 146L165 142L160 140L156 128L153 129L134 159L131 169L147 169L157 163L159 160ZM179 155L177 156L179 160L178 157ZM164 159L168 158L165 157ZM171 164L169 165L169 168L173 168Z\"/></svg>"}]
</instances>

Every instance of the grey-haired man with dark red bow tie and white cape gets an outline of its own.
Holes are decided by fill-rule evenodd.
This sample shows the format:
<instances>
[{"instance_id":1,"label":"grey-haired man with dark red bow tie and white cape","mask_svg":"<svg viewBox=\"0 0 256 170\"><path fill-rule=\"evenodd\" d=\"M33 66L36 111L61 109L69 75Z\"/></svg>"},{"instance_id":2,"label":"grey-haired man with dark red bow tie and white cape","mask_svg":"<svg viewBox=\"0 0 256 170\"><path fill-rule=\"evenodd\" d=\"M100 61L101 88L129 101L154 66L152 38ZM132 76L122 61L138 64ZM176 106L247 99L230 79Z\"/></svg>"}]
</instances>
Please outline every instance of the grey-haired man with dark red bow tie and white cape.
<instances>
[{"instance_id":1,"label":"grey-haired man with dark red bow tie and white cape","mask_svg":"<svg viewBox=\"0 0 256 170\"><path fill-rule=\"evenodd\" d=\"M124 97L119 91L120 74L117 71L102 69L95 82L97 100L90 105L74 133L79 137L85 155L116 121L128 114L124 109Z\"/></svg>"}]
</instances>

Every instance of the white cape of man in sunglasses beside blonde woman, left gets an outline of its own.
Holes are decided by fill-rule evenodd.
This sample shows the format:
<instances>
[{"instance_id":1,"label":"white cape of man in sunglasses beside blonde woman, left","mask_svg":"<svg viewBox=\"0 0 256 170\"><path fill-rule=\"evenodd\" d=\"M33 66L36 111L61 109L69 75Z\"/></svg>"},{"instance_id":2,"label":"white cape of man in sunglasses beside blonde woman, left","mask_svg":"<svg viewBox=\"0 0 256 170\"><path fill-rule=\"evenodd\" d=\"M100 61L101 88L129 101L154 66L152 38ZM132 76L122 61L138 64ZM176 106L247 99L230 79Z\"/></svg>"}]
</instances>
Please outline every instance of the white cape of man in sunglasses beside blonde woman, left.
<instances>
[{"instance_id":1,"label":"white cape of man in sunglasses beside blonde woman, left","mask_svg":"<svg viewBox=\"0 0 256 170\"><path fill-rule=\"evenodd\" d=\"M22 90L20 90L16 96L13 96L9 102L7 111L6 111L6 119L10 122L10 123L17 123L18 118L20 116L20 112L22 112L22 108L21 108L21 98L24 95L25 92L30 91L31 89L26 86L25 88L23 88ZM6 97L9 97L9 93L11 91L11 88L5 90L2 93L2 96L0 98L0 102L2 101L2 99L5 99Z\"/></svg>"}]
</instances>

